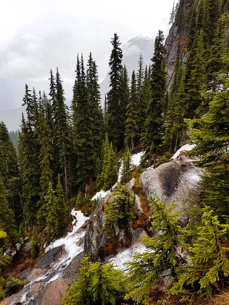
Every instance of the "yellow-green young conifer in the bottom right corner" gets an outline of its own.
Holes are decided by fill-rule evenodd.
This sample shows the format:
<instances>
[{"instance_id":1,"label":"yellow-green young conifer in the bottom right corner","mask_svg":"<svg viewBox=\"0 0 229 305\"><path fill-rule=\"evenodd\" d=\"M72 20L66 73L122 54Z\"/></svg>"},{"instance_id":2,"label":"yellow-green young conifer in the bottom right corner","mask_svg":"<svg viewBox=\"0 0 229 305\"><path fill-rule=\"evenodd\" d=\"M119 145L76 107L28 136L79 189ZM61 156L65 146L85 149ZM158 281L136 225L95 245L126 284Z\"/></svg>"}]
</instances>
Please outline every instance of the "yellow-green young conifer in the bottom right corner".
<instances>
[{"instance_id":1,"label":"yellow-green young conifer in the bottom right corner","mask_svg":"<svg viewBox=\"0 0 229 305\"><path fill-rule=\"evenodd\" d=\"M198 294L210 298L214 287L223 285L229 275L226 239L229 225L221 225L210 207L206 206L203 212L203 226L198 227L197 239L188 249L190 264L182 266L179 281L171 288L171 294L187 293L197 285Z\"/></svg>"}]
</instances>

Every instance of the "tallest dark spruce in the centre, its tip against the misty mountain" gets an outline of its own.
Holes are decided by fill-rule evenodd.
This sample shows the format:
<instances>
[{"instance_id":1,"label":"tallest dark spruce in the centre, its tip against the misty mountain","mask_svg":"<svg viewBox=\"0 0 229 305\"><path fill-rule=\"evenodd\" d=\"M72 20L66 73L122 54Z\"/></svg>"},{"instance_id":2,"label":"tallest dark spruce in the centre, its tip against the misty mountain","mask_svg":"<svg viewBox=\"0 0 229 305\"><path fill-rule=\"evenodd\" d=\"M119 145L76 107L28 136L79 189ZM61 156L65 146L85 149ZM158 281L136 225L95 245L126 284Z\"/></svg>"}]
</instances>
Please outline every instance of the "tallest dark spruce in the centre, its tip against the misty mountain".
<instances>
[{"instance_id":1,"label":"tallest dark spruce in the centre, its tip against the misty mountain","mask_svg":"<svg viewBox=\"0 0 229 305\"><path fill-rule=\"evenodd\" d=\"M113 143L115 150L118 151L123 147L120 139L123 138L125 133L123 125L123 113L121 113L121 74L122 74L122 58L123 53L120 48L119 36L117 33L111 40L113 49L110 54L109 67L110 67L110 90L107 94L108 103L108 136L109 140ZM121 108L121 109L120 109Z\"/></svg>"}]
</instances>

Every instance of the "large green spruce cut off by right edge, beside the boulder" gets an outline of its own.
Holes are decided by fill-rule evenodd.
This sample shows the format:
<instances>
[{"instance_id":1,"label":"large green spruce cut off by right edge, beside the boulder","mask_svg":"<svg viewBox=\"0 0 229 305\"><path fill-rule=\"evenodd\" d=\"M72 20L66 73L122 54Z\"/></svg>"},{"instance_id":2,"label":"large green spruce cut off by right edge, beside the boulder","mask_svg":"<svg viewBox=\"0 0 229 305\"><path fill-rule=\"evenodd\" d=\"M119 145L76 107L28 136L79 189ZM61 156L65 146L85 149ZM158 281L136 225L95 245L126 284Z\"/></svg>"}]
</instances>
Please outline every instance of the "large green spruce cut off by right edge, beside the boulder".
<instances>
[{"instance_id":1,"label":"large green spruce cut off by right edge, beside the boulder","mask_svg":"<svg viewBox=\"0 0 229 305\"><path fill-rule=\"evenodd\" d=\"M207 169L202 181L203 202L214 208L219 219L224 221L229 216L228 87L229 79L225 76L224 89L213 94L209 113L199 119L187 120L191 143L196 144L192 154L201 156L201 164Z\"/></svg>"}]
</instances>

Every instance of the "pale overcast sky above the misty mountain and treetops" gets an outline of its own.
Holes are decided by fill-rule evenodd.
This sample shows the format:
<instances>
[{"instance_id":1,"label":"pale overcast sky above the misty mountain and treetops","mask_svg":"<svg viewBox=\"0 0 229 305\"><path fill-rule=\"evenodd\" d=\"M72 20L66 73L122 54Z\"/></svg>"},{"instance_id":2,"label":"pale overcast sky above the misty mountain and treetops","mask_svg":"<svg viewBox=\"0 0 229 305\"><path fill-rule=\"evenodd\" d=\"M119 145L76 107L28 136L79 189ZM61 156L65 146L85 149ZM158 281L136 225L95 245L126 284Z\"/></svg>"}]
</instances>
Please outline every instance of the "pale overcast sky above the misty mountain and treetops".
<instances>
[{"instance_id":1,"label":"pale overcast sky above the misty mountain and treetops","mask_svg":"<svg viewBox=\"0 0 229 305\"><path fill-rule=\"evenodd\" d=\"M93 53L102 80L110 38L129 39L168 31L173 0L9 0L1 2L0 78L48 78L59 67L72 82L77 53Z\"/></svg>"}]
</instances>

